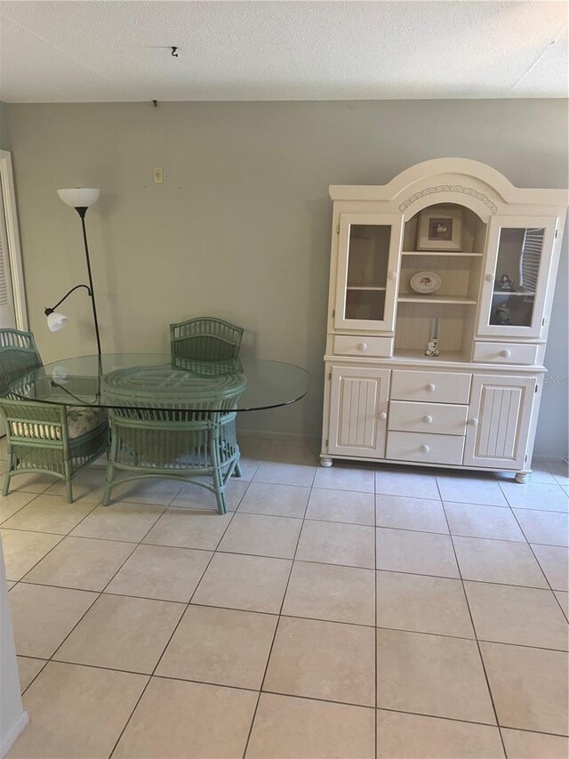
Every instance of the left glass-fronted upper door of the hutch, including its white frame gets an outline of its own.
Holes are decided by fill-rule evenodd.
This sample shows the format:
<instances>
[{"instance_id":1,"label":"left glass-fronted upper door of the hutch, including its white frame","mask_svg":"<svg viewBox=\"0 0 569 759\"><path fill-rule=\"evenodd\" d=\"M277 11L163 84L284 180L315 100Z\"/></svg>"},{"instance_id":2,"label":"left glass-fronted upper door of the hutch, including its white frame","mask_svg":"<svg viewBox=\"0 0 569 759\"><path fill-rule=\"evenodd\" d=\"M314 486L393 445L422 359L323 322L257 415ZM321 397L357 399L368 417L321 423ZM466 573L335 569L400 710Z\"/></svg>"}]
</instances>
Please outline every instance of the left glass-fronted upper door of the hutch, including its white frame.
<instances>
[{"instance_id":1,"label":"left glass-fronted upper door of the hutch, including its white frame","mask_svg":"<svg viewBox=\"0 0 569 759\"><path fill-rule=\"evenodd\" d=\"M334 326L393 332L401 214L341 214Z\"/></svg>"}]
</instances>

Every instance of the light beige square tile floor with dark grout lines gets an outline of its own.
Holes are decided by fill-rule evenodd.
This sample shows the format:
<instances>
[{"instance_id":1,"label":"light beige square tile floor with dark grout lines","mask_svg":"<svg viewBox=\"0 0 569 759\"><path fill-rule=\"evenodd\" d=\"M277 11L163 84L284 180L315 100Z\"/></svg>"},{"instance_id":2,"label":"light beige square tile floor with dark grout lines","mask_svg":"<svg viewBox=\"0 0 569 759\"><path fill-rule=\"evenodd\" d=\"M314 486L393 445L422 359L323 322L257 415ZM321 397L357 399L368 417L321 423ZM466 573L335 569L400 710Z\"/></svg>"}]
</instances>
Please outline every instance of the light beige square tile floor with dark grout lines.
<instances>
[{"instance_id":1,"label":"light beige square tile floor with dark grout lines","mask_svg":"<svg viewBox=\"0 0 569 759\"><path fill-rule=\"evenodd\" d=\"M241 441L227 516L172 481L101 507L97 467L73 505L45 477L0 498L11 759L566 759L562 466L518 485Z\"/></svg>"}]
</instances>

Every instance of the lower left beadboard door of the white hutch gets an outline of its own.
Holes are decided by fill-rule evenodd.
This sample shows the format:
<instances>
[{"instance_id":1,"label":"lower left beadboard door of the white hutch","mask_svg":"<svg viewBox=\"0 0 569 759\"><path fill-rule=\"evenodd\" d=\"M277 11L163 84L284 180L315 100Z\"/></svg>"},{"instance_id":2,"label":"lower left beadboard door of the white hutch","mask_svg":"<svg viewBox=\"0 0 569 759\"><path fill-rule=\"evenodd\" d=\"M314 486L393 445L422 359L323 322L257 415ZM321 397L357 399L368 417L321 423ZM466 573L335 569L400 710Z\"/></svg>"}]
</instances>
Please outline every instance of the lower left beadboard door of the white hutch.
<instances>
[{"instance_id":1,"label":"lower left beadboard door of the white hutch","mask_svg":"<svg viewBox=\"0 0 569 759\"><path fill-rule=\"evenodd\" d=\"M385 457L389 369L332 367L328 452Z\"/></svg>"}]
</instances>

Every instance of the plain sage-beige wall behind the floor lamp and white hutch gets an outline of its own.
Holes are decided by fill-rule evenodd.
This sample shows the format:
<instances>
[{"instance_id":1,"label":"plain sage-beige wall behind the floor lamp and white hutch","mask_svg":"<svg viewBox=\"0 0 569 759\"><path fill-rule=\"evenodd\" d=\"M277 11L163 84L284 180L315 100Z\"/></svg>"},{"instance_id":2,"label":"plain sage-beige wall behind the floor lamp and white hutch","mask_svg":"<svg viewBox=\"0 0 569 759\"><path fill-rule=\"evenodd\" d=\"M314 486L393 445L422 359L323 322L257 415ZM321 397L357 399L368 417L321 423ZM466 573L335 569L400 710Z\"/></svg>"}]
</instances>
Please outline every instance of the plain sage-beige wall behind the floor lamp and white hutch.
<instances>
[{"instance_id":1,"label":"plain sage-beige wall behind the floor lamp and white hutch","mask_svg":"<svg viewBox=\"0 0 569 759\"><path fill-rule=\"evenodd\" d=\"M307 400L244 420L319 433L328 185L383 184L432 157L469 157L525 187L567 186L566 101L10 105L31 328L44 359L92 351L89 305L51 335L43 307L84 281L80 226L55 190L101 188L87 215L106 351L160 351L168 324L218 315L244 355L308 367ZM152 167L164 166L164 185ZM567 375L566 259L547 363ZM548 384L538 450L566 454L567 387ZM563 410L563 416L560 413Z\"/></svg>"}]
</instances>

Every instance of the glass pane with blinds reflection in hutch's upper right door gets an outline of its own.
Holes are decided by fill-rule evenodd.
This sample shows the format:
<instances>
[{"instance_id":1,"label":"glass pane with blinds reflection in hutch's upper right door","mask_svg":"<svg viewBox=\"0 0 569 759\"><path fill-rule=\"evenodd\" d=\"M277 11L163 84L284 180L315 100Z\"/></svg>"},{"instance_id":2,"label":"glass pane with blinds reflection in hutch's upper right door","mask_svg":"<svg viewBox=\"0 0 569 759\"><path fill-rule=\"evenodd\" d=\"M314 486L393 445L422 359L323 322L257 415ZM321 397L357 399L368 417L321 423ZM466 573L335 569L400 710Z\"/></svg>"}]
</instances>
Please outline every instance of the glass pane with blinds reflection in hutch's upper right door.
<instances>
[{"instance_id":1,"label":"glass pane with blinds reflection in hutch's upper right door","mask_svg":"<svg viewBox=\"0 0 569 759\"><path fill-rule=\"evenodd\" d=\"M500 231L490 324L531 327L545 230Z\"/></svg>"}]
</instances>

